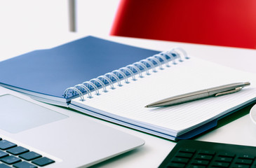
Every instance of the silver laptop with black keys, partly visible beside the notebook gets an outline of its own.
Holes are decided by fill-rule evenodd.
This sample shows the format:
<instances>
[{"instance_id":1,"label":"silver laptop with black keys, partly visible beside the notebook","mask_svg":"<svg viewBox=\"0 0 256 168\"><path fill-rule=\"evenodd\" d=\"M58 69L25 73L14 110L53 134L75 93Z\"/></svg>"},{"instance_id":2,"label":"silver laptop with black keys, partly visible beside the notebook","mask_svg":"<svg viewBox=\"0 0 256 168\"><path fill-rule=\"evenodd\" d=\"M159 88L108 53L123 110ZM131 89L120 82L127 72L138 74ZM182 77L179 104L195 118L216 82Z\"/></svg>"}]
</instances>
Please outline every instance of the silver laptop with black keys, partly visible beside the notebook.
<instances>
[{"instance_id":1,"label":"silver laptop with black keys, partly visible beside the notebook","mask_svg":"<svg viewBox=\"0 0 256 168\"><path fill-rule=\"evenodd\" d=\"M89 167L144 140L0 87L0 167Z\"/></svg>"}]
</instances>

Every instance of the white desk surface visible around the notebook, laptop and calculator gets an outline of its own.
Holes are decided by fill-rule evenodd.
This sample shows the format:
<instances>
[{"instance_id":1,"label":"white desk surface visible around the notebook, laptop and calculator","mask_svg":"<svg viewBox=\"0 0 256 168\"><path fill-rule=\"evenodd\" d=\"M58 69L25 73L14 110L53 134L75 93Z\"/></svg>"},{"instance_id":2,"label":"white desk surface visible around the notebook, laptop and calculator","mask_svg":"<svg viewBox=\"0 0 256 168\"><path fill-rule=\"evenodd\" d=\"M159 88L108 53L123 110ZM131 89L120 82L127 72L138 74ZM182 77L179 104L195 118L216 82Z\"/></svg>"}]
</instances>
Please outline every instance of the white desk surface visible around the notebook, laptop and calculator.
<instances>
[{"instance_id":1,"label":"white desk surface visible around the notebook, laptop and calculator","mask_svg":"<svg viewBox=\"0 0 256 168\"><path fill-rule=\"evenodd\" d=\"M56 45L81 38L86 34L61 33L58 34L1 34L0 38L0 61L29 52L36 49L52 48ZM168 50L173 46L180 46L189 55L200 57L213 62L231 66L236 69L250 71L256 76L256 50L241 48L224 48L210 45L195 45L189 43L173 43L167 41L152 41L137 38L123 38L106 36L109 40L136 45L139 47ZM95 119L97 120L97 119ZM126 127L107 123L123 132L133 134L146 141L146 144L134 151L125 153L116 158L102 162L94 167L158 167L166 155L175 146L175 142L154 137L150 134L131 130ZM256 146L256 125L252 123L248 115L235 120L223 127L208 132L197 138L202 141L215 141L230 144Z\"/></svg>"}]
</instances>

